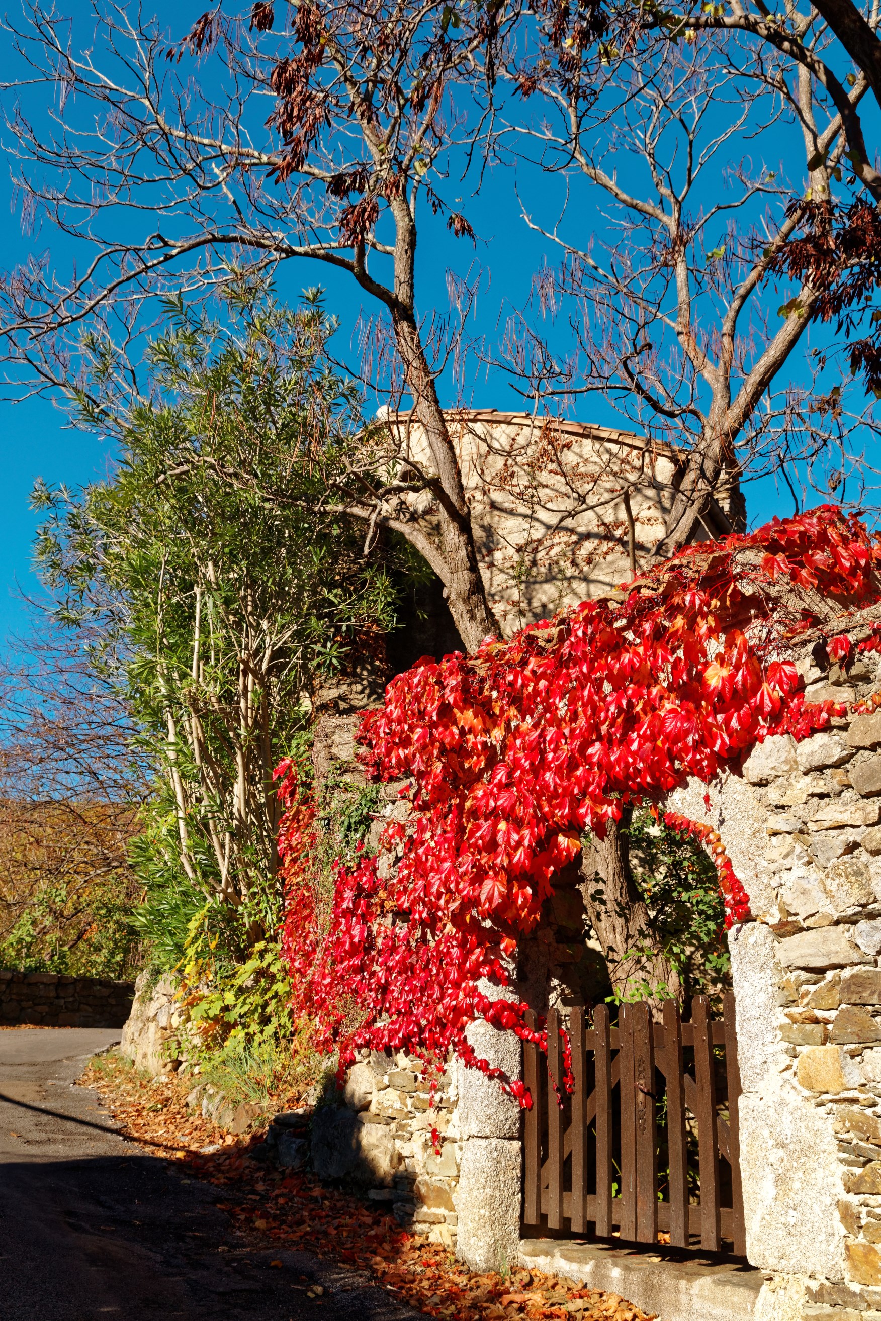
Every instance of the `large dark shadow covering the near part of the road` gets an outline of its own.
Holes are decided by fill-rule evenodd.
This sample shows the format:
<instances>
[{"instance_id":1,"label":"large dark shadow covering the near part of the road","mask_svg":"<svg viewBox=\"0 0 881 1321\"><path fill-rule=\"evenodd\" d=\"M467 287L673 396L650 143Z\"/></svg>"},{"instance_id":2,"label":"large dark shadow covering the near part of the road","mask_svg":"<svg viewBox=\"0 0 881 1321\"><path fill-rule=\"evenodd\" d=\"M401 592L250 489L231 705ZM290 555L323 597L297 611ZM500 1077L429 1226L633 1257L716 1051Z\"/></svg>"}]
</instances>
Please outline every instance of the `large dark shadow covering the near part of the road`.
<instances>
[{"instance_id":1,"label":"large dark shadow covering the near part of the road","mask_svg":"<svg viewBox=\"0 0 881 1321\"><path fill-rule=\"evenodd\" d=\"M136 1151L0 1164L3 1321L417 1316L309 1252L243 1246L218 1196ZM313 1283L324 1287L321 1299L306 1297Z\"/></svg>"}]
</instances>

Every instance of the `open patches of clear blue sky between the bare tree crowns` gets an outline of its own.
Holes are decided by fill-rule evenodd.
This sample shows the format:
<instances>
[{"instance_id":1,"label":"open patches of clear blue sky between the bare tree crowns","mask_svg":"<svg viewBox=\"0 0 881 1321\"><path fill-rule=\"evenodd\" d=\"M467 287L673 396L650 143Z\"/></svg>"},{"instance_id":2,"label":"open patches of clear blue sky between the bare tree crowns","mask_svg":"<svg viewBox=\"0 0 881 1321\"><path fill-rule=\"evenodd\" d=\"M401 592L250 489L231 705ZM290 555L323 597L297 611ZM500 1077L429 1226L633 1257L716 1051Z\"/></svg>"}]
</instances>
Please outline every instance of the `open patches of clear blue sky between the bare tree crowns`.
<instances>
[{"instance_id":1,"label":"open patches of clear blue sky between the bare tree crowns","mask_svg":"<svg viewBox=\"0 0 881 1321\"><path fill-rule=\"evenodd\" d=\"M172 12L172 7L166 3L162 8L165 12ZM69 0L67 11L74 17L74 41L78 37L87 38L90 34L88 24L85 21L87 5L83 0ZM176 4L173 7L176 36L180 36L201 12L202 0ZM4 40L0 36L0 45ZM787 131L783 129L777 135L773 149L787 151ZM778 162L773 164L778 168ZM623 168L626 170L626 161ZM523 184L522 173L520 185ZM546 202L549 207L552 198L553 182L543 180L542 196L536 205ZM48 250L53 264L62 272L66 271L74 256L70 240L59 238L45 226L32 236L24 236L20 218L11 202L11 181L4 173L0 177L0 252L3 254L0 266L11 267L32 252ZM601 210L596 210L596 203L588 203L585 199L585 205L593 205L596 215L593 221L588 218L588 229L593 223L600 232L606 223L605 215ZM507 312L524 309L530 304L532 275L543 259L549 254L549 260L555 262L556 256L544 239L530 232L523 225L512 170L497 169L491 186L487 186L483 196L477 199L465 197L462 210L478 234L477 247L472 250L468 240L453 239L440 219L425 223L420 231L417 297L423 312L431 308L445 310L448 267L454 266L460 275L468 273L469 268L472 272L481 268L479 295L470 324L476 333L493 341L498 337ZM362 310L369 316L375 308L363 308L354 280L326 266L289 262L281 268L279 289L287 299L295 300L300 289L313 284L322 284L326 288L328 306L341 318L338 355L355 363L358 318ZM446 402L452 402L453 387L449 379L445 387ZM522 407L516 392L502 374L494 373L487 378L486 369L476 362L472 362L468 371L464 402L474 407ZM596 395L589 396L589 402L579 403L576 413L585 421L619 424L613 410ZM0 403L0 439L4 454L4 481L0 486L1 641L9 634L22 631L26 626L25 610L17 598L18 588L26 593L40 590L30 571L37 519L28 509L28 494L36 478L78 486L102 477L112 462L112 454L106 443L98 437L66 427L63 412L46 399L28 399L17 404ZM773 483L763 483L762 489L750 487L748 498L753 523L762 522L774 513L791 513L791 506L778 498Z\"/></svg>"}]
</instances>

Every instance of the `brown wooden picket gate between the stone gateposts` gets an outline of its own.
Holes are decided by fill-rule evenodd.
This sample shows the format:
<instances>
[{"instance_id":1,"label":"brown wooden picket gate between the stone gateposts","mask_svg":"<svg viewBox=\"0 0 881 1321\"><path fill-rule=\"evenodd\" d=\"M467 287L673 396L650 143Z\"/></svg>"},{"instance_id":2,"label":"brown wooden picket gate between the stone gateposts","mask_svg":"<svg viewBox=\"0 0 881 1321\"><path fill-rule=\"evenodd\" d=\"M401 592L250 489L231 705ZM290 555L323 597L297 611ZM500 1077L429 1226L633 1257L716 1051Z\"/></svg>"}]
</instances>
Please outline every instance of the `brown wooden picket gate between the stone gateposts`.
<instances>
[{"instance_id":1,"label":"brown wooden picket gate between the stone gateposts","mask_svg":"<svg viewBox=\"0 0 881 1321\"><path fill-rule=\"evenodd\" d=\"M524 1045L534 1098L524 1114L524 1223L575 1235L592 1223L600 1238L618 1229L637 1243L658 1243L662 1230L674 1247L696 1247L699 1238L704 1251L728 1239L744 1256L733 995L716 1022L703 996L689 1022L672 1001L663 1024L652 1024L647 1004L622 1005L614 1028L608 1005L593 1011L593 1026L572 1009L571 1095L553 1009L547 1026L547 1059Z\"/></svg>"}]
</instances>

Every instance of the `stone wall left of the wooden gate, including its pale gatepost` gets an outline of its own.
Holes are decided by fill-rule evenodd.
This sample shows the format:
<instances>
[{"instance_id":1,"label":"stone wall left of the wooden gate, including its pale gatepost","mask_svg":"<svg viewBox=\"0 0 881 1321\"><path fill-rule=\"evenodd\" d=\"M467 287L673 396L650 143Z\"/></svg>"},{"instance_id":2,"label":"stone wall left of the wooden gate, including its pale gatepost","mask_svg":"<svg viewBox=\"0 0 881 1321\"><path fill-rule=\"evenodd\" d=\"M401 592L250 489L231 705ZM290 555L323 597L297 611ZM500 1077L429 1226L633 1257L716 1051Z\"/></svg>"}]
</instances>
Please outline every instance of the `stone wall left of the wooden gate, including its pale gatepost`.
<instances>
[{"instance_id":1,"label":"stone wall left of the wooden gate, including its pale gatepost","mask_svg":"<svg viewBox=\"0 0 881 1321\"><path fill-rule=\"evenodd\" d=\"M359 716L325 715L316 727L313 764L321 783L363 782L351 762ZM390 822L407 826L409 803L400 785L386 783L369 836L376 849ZM402 845L379 855L382 877L392 875ZM516 992L481 987L493 997ZM485 1022L468 1029L478 1055L509 1077L520 1077L520 1044ZM322 1178L372 1186L367 1196L390 1202L402 1223L428 1230L456 1247L476 1269L506 1269L516 1260L520 1222L520 1110L498 1083L457 1061L433 1092L421 1063L365 1054L346 1077L343 1106L320 1108L312 1122L312 1161ZM346 1114L347 1111L347 1114ZM357 1120L351 1119L351 1112ZM326 1135L326 1136L325 1136Z\"/></svg>"}]
</instances>

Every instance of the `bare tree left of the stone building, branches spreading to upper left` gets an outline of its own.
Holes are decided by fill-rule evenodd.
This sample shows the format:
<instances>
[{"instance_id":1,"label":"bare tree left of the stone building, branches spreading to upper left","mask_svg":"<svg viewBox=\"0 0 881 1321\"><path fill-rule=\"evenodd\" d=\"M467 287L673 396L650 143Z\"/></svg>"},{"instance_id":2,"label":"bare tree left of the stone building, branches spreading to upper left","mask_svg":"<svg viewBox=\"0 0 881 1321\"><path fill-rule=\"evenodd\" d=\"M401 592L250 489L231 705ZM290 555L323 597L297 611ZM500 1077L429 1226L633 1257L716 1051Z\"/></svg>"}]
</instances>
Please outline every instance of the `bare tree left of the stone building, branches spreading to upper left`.
<instances>
[{"instance_id":1,"label":"bare tree left of the stone building, branches spreading to upper left","mask_svg":"<svg viewBox=\"0 0 881 1321\"><path fill-rule=\"evenodd\" d=\"M473 650L498 625L416 308L416 217L431 209L473 238L441 189L450 152L478 151L516 5L312 0L285 12L289 30L276 34L265 0L250 26L218 8L172 46L131 8L96 5L96 40L82 53L41 4L8 28L21 61L5 91L9 104L18 98L7 148L22 215L82 240L86 260L66 280L48 259L4 279L7 355L30 369L33 388L69 388L79 337L131 345L162 288L205 292L231 264L265 271L295 258L347 272L387 317L431 469L399 454L392 480L365 477L346 511L424 555ZM133 391L136 357L115 369ZM402 503L402 489L429 491L431 517Z\"/></svg>"}]
</instances>

